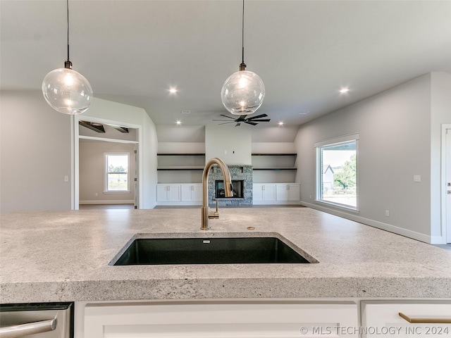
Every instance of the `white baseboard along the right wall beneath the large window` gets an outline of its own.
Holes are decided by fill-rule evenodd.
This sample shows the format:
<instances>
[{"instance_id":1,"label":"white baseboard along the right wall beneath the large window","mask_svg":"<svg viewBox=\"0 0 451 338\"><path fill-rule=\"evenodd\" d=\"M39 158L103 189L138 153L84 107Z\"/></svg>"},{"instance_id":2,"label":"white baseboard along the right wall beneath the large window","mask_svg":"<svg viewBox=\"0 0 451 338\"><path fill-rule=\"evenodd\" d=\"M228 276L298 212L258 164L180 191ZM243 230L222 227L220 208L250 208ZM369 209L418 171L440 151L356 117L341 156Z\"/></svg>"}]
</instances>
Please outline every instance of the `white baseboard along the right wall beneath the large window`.
<instances>
[{"instance_id":1,"label":"white baseboard along the right wall beneath the large window","mask_svg":"<svg viewBox=\"0 0 451 338\"><path fill-rule=\"evenodd\" d=\"M351 213L345 213L343 211L334 210L332 208L326 208L324 206L318 206L316 204L306 203L301 201L303 206L307 206L312 209L323 211L325 213L330 213L332 215L340 216L346 218L347 220L354 220L355 222L362 223L364 225L370 225L371 227L377 227L378 229L385 230L388 232L393 232L395 234L400 234L405 237L416 239L417 241L432 243L432 238L428 234L421 234L420 232L415 232L412 230L404 229L402 227L397 227L388 223L382 223L378 220L370 220L369 218L364 218L359 215L353 215Z\"/></svg>"}]
</instances>

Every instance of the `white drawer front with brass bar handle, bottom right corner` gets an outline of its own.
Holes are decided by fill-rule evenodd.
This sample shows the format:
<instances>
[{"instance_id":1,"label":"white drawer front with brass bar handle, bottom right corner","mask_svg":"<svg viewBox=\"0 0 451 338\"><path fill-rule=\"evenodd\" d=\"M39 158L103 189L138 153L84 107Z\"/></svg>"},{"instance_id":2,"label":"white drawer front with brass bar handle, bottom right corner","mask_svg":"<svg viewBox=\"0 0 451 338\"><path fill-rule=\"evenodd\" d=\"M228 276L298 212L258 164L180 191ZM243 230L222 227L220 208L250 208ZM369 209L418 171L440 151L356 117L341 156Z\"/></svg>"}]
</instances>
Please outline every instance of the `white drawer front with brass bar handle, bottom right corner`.
<instances>
[{"instance_id":1,"label":"white drawer front with brass bar handle, bottom right corner","mask_svg":"<svg viewBox=\"0 0 451 338\"><path fill-rule=\"evenodd\" d=\"M361 330L362 338L450 337L451 301L362 301Z\"/></svg>"}]
</instances>

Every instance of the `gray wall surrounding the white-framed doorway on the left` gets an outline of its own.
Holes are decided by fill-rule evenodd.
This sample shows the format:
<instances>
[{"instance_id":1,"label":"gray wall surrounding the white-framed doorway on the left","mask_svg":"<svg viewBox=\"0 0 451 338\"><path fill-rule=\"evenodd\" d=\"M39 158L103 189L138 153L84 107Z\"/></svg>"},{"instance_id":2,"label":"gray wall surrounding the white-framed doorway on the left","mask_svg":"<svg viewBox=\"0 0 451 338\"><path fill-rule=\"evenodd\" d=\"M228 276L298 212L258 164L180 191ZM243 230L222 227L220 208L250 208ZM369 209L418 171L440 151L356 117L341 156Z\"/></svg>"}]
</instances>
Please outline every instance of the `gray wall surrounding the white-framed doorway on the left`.
<instances>
[{"instance_id":1,"label":"gray wall surrounding the white-framed doorway on the left","mask_svg":"<svg viewBox=\"0 0 451 338\"><path fill-rule=\"evenodd\" d=\"M0 108L0 212L70 210L71 117L54 111L40 91L2 91ZM140 208L153 208L158 140L149 115L96 98L83 116L140 125Z\"/></svg>"}]
</instances>

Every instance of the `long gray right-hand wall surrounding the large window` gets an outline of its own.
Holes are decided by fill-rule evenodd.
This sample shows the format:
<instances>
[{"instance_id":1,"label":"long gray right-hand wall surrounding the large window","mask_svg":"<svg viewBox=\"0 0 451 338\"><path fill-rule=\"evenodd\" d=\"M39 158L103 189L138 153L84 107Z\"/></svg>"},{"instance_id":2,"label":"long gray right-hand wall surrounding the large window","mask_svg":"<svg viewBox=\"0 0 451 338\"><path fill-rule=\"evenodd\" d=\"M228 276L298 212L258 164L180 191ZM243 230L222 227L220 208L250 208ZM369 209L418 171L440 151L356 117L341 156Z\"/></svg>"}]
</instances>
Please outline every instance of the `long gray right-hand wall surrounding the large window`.
<instances>
[{"instance_id":1,"label":"long gray right-hand wall surrounding the large window","mask_svg":"<svg viewBox=\"0 0 451 338\"><path fill-rule=\"evenodd\" d=\"M359 213L323 210L429 242L430 126L431 75L302 125L295 141L302 203L321 208L314 203L314 143L358 133Z\"/></svg>"}]
</instances>

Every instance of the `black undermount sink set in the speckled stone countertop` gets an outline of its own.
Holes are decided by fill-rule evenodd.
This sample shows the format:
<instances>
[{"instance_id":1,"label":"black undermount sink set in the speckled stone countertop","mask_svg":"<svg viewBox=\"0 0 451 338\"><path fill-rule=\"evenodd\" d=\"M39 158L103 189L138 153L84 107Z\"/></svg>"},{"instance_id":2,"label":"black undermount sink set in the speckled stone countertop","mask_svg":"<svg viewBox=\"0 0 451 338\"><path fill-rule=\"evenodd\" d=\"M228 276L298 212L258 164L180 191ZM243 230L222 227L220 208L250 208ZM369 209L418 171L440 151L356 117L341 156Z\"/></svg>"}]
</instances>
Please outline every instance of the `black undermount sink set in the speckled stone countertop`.
<instances>
[{"instance_id":1,"label":"black undermount sink set in the speckled stone countertop","mask_svg":"<svg viewBox=\"0 0 451 338\"><path fill-rule=\"evenodd\" d=\"M121 250L123 251L123 250ZM119 256L119 254L117 255ZM309 255L304 255L309 256ZM111 265L318 263L276 237L137 238Z\"/></svg>"}]
</instances>

